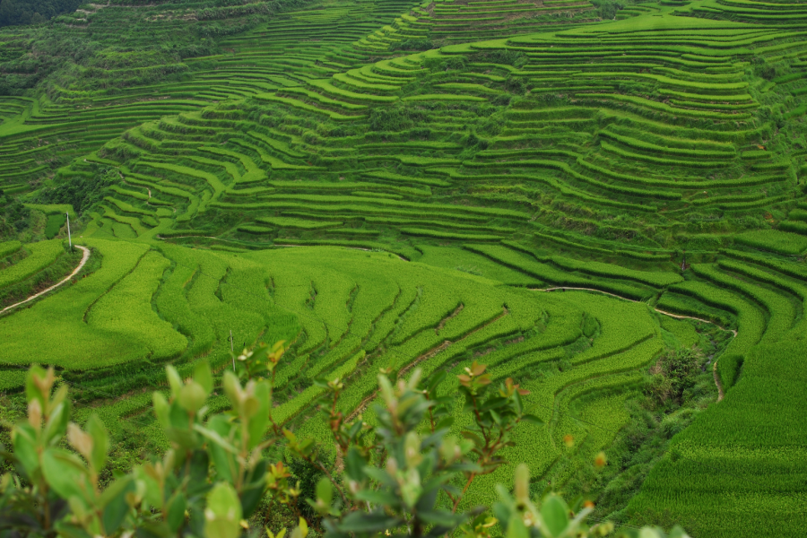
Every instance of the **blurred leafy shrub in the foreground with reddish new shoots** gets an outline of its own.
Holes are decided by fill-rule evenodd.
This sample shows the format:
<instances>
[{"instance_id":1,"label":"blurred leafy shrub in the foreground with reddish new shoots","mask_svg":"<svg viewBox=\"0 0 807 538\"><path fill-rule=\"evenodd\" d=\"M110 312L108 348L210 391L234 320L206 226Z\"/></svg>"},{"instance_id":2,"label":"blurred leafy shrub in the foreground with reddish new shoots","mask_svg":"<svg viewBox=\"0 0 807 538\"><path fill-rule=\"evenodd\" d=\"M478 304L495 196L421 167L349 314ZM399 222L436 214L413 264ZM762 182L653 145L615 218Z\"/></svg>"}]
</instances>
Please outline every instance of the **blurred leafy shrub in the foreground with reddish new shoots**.
<instances>
[{"instance_id":1,"label":"blurred leafy shrub in the foreground with reddish new shoots","mask_svg":"<svg viewBox=\"0 0 807 538\"><path fill-rule=\"evenodd\" d=\"M4 452L19 475L0 482L0 535L3 536L195 536L236 538L257 536L256 510L287 505L299 526L292 538L306 538L309 529L332 537L463 535L489 538L498 529L508 538L539 536L604 536L613 525L586 525L591 507L573 510L549 495L539 503L529 498L524 464L516 470L513 495L499 486L501 501L492 507L458 510L475 477L490 473L504 461L500 450L512 445L511 432L526 414L525 391L508 379L491 386L485 366L473 363L459 376L465 411L472 426L462 439L447 434L453 419L453 397L440 396L445 372L421 384L419 370L407 379L378 376L377 424L349 421L337 410L343 391L340 379L321 382L325 414L342 464L329 470L325 446L299 438L273 420L274 370L282 343L260 344L239 355L237 374L226 371L221 388L231 409L208 416L214 378L200 362L192 378L183 380L167 368L169 397L153 395L154 413L171 448L161 459L135 465L105 489L100 472L108 452L108 434L92 415L80 428L70 421L67 386L53 390L53 369L34 366L26 385L28 419L13 428L13 453ZM73 450L65 448L63 440ZM299 482L282 462L265 457L281 447L321 470L316 499L299 499ZM329 443L329 446L333 444ZM300 510L302 502L308 519ZM249 521L253 524L250 525ZM285 529L266 528L269 538ZM664 533L643 529L629 534L645 537ZM670 537L685 536L680 529Z\"/></svg>"}]
</instances>

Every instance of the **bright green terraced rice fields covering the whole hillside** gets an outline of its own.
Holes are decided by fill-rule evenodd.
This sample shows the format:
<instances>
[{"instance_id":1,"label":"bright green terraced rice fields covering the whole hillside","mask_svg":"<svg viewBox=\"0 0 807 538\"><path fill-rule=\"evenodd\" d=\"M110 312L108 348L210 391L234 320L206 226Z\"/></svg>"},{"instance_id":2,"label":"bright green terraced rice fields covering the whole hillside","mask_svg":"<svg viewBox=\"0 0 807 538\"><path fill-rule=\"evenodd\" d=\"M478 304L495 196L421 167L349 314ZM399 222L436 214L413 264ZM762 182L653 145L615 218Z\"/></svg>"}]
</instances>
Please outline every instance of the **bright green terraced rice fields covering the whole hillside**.
<instances>
[{"instance_id":1,"label":"bright green terraced rice fields covering the whole hillside","mask_svg":"<svg viewBox=\"0 0 807 538\"><path fill-rule=\"evenodd\" d=\"M355 414L379 368L483 357L547 422L508 454L536 489L803 535L805 6L91 4L5 30L4 238L64 237L72 204L102 263L0 318L4 386L48 353L123 460L134 430L165 446L143 388L226 368L230 330L294 342L277 416L319 438L319 376Z\"/></svg>"}]
</instances>

